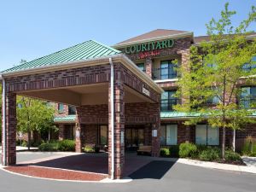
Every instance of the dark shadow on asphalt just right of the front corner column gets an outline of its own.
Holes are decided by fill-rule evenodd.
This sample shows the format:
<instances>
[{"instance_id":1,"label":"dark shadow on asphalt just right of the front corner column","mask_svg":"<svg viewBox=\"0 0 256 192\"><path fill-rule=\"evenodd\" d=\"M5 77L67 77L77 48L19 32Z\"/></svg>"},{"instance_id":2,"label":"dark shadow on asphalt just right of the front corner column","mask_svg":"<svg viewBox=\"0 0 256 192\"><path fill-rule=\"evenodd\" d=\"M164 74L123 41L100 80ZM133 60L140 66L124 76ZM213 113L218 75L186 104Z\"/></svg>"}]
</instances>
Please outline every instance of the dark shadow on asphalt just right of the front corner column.
<instances>
[{"instance_id":1,"label":"dark shadow on asphalt just right of the front corner column","mask_svg":"<svg viewBox=\"0 0 256 192\"><path fill-rule=\"evenodd\" d=\"M153 178L160 179L166 172L168 172L175 162L165 161L165 160L154 160L148 163L146 166L138 169L136 172L131 173L129 177L132 179L143 179L143 178Z\"/></svg>"}]
</instances>

